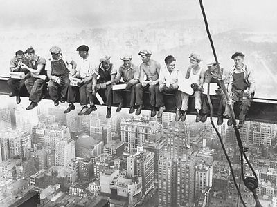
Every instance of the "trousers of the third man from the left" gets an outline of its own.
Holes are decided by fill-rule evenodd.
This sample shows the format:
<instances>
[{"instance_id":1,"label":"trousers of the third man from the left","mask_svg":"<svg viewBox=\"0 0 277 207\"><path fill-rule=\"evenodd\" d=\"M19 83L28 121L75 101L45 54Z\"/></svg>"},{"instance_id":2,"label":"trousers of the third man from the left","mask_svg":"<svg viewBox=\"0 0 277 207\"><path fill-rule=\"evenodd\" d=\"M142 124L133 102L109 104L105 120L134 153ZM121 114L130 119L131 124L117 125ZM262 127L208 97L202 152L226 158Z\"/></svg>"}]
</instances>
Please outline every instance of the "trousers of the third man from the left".
<instances>
[{"instance_id":1,"label":"trousers of the third man from the left","mask_svg":"<svg viewBox=\"0 0 277 207\"><path fill-rule=\"evenodd\" d=\"M54 81L50 80L48 83L48 92L53 101L57 101L60 99L66 99L67 92L69 90L69 78L64 78L64 86L60 86L59 84L55 83Z\"/></svg>"}]
</instances>

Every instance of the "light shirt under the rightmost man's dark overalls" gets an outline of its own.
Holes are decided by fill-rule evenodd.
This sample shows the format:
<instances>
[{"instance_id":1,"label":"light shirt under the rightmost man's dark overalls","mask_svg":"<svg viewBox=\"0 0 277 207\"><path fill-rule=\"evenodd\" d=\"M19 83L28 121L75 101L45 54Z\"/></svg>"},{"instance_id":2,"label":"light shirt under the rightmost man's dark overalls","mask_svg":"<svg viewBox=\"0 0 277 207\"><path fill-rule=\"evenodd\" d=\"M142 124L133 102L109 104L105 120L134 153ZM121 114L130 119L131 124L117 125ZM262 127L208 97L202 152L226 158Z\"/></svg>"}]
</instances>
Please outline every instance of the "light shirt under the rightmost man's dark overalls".
<instances>
[{"instance_id":1,"label":"light shirt under the rightmost man's dark overalls","mask_svg":"<svg viewBox=\"0 0 277 207\"><path fill-rule=\"evenodd\" d=\"M253 76L253 70L249 69L245 64L243 65L241 70L238 70L237 68L235 68L235 66L233 66L229 70L228 83L233 84L233 73L240 73L240 72L244 73L244 79L247 81L247 84L249 84L249 90L254 92L256 86L255 86L255 79Z\"/></svg>"}]
</instances>

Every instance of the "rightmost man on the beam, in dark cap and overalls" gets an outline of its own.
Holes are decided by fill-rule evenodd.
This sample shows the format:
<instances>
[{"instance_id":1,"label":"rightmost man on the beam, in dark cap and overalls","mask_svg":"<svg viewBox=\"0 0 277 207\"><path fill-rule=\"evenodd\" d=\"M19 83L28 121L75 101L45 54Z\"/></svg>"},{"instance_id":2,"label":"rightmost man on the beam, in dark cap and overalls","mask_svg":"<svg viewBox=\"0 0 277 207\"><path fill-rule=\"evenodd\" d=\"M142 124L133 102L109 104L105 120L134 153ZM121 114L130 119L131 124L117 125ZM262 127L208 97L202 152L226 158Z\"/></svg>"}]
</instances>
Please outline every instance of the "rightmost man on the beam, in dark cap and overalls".
<instances>
[{"instance_id":1,"label":"rightmost man on the beam, in dark cap and overalls","mask_svg":"<svg viewBox=\"0 0 277 207\"><path fill-rule=\"evenodd\" d=\"M253 70L244 64L244 54L242 52L235 52L231 58L235 62L229 70L229 83L228 93L231 99L240 104L240 115L239 115L239 127L244 125L245 115L251 105L251 97L255 92L255 79L253 77ZM232 125L231 117L227 123L229 126Z\"/></svg>"}]
</instances>

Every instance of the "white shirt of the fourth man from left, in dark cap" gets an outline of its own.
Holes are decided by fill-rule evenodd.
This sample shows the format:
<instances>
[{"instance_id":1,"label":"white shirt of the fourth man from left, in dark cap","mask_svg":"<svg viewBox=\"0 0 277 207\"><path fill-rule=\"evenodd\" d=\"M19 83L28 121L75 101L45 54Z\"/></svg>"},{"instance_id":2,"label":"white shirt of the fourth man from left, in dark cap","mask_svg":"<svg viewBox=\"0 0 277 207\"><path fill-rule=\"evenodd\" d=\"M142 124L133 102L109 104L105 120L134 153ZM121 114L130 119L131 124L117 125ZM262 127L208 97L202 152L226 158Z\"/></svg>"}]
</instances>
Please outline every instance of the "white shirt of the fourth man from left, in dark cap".
<instances>
[{"instance_id":1,"label":"white shirt of the fourth man from left, in dark cap","mask_svg":"<svg viewBox=\"0 0 277 207\"><path fill-rule=\"evenodd\" d=\"M96 70L96 62L89 56L87 59L80 58L77 63L77 72L80 73L81 78L85 78L89 75L93 75L94 70Z\"/></svg>"}]
</instances>

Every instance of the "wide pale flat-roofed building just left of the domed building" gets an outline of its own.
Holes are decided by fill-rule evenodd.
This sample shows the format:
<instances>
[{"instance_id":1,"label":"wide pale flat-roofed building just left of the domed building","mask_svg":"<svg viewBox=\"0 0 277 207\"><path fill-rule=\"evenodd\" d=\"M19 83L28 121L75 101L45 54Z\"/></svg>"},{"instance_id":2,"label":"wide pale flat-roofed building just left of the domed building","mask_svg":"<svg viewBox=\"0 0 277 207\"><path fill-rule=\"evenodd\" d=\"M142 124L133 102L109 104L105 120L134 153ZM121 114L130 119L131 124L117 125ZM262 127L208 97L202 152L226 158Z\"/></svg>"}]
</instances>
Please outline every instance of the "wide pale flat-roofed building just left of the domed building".
<instances>
[{"instance_id":1,"label":"wide pale flat-roofed building just left of the domed building","mask_svg":"<svg viewBox=\"0 0 277 207\"><path fill-rule=\"evenodd\" d=\"M57 141L69 137L69 128L60 123L39 124L33 127L33 144L42 147L54 147Z\"/></svg>"}]
</instances>

